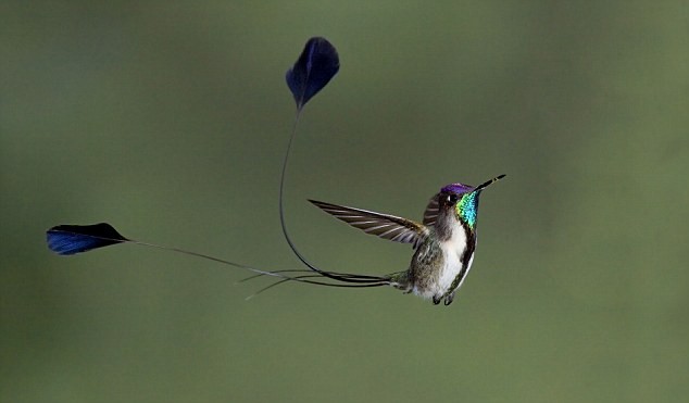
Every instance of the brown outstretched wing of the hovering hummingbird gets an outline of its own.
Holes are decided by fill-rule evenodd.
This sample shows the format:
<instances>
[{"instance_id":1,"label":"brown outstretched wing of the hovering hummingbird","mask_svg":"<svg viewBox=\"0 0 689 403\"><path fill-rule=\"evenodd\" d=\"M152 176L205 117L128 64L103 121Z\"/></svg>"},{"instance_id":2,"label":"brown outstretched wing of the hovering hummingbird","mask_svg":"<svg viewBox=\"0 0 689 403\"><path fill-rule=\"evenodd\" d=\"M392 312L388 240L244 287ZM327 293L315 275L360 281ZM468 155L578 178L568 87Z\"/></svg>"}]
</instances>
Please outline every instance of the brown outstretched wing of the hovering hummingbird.
<instances>
[{"instance_id":1,"label":"brown outstretched wing of the hovering hummingbird","mask_svg":"<svg viewBox=\"0 0 689 403\"><path fill-rule=\"evenodd\" d=\"M411 219L315 200L309 201L324 212L333 214L335 218L341 219L366 234L396 242L413 243L414 248L428 235L428 228L425 225Z\"/></svg>"}]
</instances>

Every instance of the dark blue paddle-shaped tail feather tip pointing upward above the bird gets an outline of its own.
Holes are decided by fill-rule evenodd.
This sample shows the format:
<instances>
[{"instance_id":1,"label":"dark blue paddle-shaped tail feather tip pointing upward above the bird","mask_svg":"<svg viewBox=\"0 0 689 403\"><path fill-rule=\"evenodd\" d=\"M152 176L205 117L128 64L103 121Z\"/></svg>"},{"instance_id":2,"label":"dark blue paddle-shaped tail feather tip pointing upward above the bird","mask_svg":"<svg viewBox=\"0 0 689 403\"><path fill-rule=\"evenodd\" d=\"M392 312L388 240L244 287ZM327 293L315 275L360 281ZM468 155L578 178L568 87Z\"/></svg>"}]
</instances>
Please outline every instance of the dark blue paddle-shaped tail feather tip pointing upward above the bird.
<instances>
[{"instance_id":1,"label":"dark blue paddle-shaped tail feather tip pointing upward above the bird","mask_svg":"<svg viewBox=\"0 0 689 403\"><path fill-rule=\"evenodd\" d=\"M339 70L340 59L335 47L325 38L309 39L299 60L287 71L285 77L297 102L297 109L301 110Z\"/></svg>"}]
</instances>

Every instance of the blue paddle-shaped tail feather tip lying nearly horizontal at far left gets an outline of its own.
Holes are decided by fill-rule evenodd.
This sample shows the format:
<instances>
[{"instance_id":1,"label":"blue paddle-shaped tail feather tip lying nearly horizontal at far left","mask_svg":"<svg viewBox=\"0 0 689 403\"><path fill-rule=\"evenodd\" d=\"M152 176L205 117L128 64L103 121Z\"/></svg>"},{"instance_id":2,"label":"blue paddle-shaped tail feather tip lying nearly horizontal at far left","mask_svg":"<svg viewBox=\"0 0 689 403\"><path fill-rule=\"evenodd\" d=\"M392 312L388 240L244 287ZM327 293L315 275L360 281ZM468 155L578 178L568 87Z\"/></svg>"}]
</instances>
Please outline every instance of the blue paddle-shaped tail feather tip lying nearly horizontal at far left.
<instances>
[{"instance_id":1,"label":"blue paddle-shaped tail feather tip lying nearly horizontal at far left","mask_svg":"<svg viewBox=\"0 0 689 403\"><path fill-rule=\"evenodd\" d=\"M126 242L123 237L110 224L100 223L93 225L59 225L46 231L48 248L51 251L70 255Z\"/></svg>"}]
</instances>

